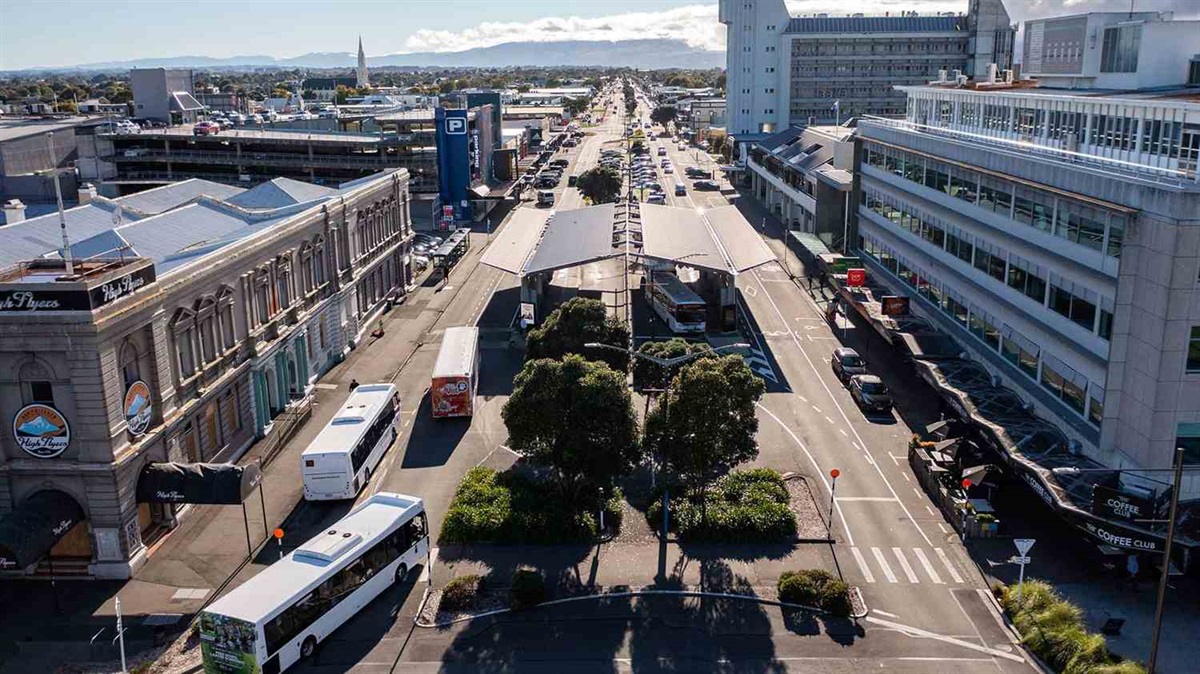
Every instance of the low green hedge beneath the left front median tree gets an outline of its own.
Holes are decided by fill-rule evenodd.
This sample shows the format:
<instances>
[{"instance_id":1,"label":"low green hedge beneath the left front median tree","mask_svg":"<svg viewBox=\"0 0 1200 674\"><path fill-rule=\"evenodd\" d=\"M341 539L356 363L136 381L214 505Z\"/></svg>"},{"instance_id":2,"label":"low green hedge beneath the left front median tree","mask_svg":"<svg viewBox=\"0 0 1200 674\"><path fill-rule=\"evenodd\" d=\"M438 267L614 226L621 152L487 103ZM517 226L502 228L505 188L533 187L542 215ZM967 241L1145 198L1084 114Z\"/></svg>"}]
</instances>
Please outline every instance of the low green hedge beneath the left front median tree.
<instances>
[{"instance_id":1,"label":"low green hedge beneath the left front median tree","mask_svg":"<svg viewBox=\"0 0 1200 674\"><path fill-rule=\"evenodd\" d=\"M608 528L620 525L620 500L617 491L605 501ZM598 508L595 503L570 507L554 485L476 467L467 471L455 491L439 542L590 542L600 531Z\"/></svg>"}]
</instances>

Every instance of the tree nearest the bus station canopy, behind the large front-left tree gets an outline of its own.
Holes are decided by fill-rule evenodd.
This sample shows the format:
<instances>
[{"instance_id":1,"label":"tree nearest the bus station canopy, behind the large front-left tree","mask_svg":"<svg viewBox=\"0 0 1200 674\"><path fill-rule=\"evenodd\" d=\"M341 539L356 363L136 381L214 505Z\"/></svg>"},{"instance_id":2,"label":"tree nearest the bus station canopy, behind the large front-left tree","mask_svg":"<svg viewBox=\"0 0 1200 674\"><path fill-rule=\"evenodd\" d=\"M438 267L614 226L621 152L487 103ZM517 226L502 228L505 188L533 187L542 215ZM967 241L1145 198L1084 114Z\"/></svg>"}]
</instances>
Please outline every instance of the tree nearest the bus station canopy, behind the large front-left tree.
<instances>
[{"instance_id":1,"label":"tree nearest the bus station canopy, behind the large front-left tree","mask_svg":"<svg viewBox=\"0 0 1200 674\"><path fill-rule=\"evenodd\" d=\"M607 307L600 300L571 297L551 312L541 325L529 331L526 360L563 359L568 354L578 354L625 372L629 363L626 354L583 345L592 342L625 349L629 344L629 330L616 317L608 315Z\"/></svg>"}]
</instances>

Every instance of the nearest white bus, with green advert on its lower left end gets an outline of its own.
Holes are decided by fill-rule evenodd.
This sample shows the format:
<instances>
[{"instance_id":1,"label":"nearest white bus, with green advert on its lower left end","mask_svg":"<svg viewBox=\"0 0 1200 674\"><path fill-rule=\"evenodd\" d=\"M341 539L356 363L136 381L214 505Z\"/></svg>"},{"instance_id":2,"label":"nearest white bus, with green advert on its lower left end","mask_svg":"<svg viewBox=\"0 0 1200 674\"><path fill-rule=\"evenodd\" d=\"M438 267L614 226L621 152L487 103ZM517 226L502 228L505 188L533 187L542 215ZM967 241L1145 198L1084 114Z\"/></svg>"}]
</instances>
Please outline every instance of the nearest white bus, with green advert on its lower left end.
<instances>
[{"instance_id":1,"label":"nearest white bus, with green advert on its lower left end","mask_svg":"<svg viewBox=\"0 0 1200 674\"><path fill-rule=\"evenodd\" d=\"M380 492L200 613L205 674L274 674L427 559L425 504Z\"/></svg>"}]
</instances>

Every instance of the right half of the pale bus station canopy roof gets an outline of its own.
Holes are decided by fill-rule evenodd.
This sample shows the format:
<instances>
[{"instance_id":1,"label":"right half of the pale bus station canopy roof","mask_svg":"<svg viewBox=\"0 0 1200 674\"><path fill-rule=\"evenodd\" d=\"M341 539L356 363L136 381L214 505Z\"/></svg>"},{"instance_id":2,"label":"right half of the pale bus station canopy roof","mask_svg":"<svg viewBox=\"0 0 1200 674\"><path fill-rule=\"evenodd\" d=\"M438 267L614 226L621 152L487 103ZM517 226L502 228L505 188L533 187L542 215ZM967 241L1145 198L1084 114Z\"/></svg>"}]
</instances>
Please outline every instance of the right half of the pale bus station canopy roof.
<instances>
[{"instance_id":1,"label":"right half of the pale bus station canopy roof","mask_svg":"<svg viewBox=\"0 0 1200 674\"><path fill-rule=\"evenodd\" d=\"M775 255L737 206L680 209L642 204L642 254L737 276Z\"/></svg>"}]
</instances>

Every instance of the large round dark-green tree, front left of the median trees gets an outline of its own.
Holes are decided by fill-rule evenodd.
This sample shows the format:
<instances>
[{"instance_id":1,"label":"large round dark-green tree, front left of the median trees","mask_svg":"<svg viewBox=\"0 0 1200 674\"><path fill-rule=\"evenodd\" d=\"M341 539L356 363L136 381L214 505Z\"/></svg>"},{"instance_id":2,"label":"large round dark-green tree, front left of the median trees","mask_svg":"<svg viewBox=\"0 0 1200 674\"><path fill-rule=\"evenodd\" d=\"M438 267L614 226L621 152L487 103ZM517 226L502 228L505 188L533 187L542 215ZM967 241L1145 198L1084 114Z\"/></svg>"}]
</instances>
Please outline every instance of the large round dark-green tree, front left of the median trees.
<instances>
[{"instance_id":1,"label":"large round dark-green tree, front left of the median trees","mask_svg":"<svg viewBox=\"0 0 1200 674\"><path fill-rule=\"evenodd\" d=\"M637 461L637 419L625 377L578 355L529 361L500 410L509 446L550 469L563 497L608 487Z\"/></svg>"}]
</instances>

